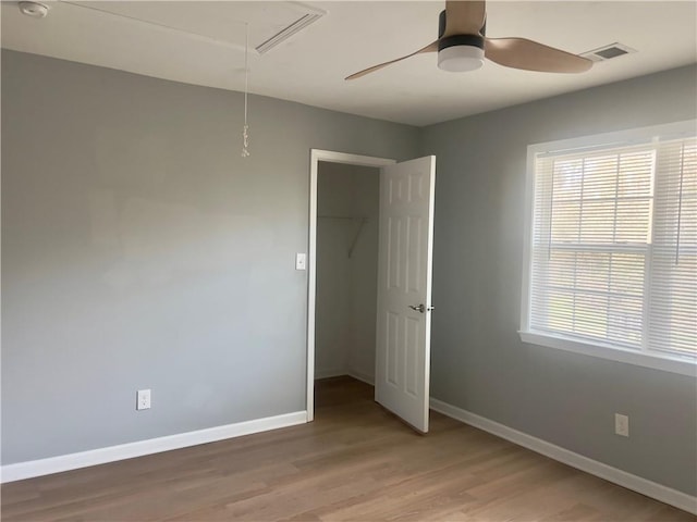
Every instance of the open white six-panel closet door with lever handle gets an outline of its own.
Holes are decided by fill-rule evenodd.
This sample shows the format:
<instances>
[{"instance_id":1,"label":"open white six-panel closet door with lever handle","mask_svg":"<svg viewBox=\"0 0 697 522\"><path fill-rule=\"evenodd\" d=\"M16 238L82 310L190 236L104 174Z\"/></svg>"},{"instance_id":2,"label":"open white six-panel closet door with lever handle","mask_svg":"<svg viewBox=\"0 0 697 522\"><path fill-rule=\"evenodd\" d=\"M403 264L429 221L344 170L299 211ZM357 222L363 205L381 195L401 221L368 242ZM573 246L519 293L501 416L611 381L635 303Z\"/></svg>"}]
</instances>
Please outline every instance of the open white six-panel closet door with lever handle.
<instances>
[{"instance_id":1,"label":"open white six-panel closet door with lever handle","mask_svg":"<svg viewBox=\"0 0 697 522\"><path fill-rule=\"evenodd\" d=\"M375 400L428 432L436 157L382 167Z\"/></svg>"}]
</instances>

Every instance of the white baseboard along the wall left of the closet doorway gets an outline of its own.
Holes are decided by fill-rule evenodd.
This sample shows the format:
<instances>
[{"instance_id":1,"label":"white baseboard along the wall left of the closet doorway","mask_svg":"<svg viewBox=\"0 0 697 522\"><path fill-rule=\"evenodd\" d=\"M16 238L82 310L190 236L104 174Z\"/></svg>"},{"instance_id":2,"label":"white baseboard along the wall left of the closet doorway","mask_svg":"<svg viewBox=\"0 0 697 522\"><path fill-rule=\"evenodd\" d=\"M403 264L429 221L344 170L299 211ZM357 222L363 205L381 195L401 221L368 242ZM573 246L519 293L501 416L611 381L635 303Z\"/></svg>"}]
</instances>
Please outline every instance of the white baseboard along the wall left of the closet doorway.
<instances>
[{"instance_id":1,"label":"white baseboard along the wall left of the closet doorway","mask_svg":"<svg viewBox=\"0 0 697 522\"><path fill-rule=\"evenodd\" d=\"M168 435L166 437L149 438L136 443L121 444L106 448L81 451L78 453L61 455L48 459L17 462L0 468L0 483L22 481L33 476L49 475L62 471L76 470L90 465L105 464L117 460L132 459L145 455L170 451L172 449L186 448L199 444L215 443L225 438L250 435L253 433L267 432L279 427L294 426L307 422L306 411L295 411L282 415L255 419L253 421L237 422L224 426L208 427L195 432Z\"/></svg>"}]
</instances>

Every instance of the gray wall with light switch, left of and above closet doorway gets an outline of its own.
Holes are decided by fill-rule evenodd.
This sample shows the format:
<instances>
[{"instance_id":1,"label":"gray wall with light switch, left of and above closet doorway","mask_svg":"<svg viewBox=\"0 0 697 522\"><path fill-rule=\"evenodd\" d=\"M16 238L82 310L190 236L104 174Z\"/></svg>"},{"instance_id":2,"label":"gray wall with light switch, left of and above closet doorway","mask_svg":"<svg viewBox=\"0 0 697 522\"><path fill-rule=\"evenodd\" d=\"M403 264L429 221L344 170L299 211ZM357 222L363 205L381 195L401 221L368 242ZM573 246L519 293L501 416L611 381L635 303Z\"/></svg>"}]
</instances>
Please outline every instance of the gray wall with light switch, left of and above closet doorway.
<instances>
[{"instance_id":1,"label":"gray wall with light switch, left of and above closet doorway","mask_svg":"<svg viewBox=\"0 0 697 522\"><path fill-rule=\"evenodd\" d=\"M305 409L309 149L419 132L242 101L2 52L3 464Z\"/></svg>"}]
</instances>

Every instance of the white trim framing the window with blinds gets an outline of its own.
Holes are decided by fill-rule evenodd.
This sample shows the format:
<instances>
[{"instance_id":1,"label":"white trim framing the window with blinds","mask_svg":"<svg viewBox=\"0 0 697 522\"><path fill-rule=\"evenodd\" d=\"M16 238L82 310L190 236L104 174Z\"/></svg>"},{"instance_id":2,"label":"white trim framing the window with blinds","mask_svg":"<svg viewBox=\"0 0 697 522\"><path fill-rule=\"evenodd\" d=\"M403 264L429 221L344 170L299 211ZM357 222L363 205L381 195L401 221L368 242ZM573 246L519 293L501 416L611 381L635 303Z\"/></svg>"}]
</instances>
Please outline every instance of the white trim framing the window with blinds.
<instances>
[{"instance_id":1,"label":"white trim framing the window with blinds","mask_svg":"<svg viewBox=\"0 0 697 522\"><path fill-rule=\"evenodd\" d=\"M543 332L534 332L527 328L529 325L530 312L530 277L533 263L531 253L531 232L534 220L534 198L535 198L535 158L538 154L553 152L573 152L574 149L588 149L591 147L610 147L613 145L631 145L633 142L649 142L655 136L661 138L683 136L694 136L697 127L696 120L655 125L650 127L633 128L614 133L604 133L594 136L562 139L558 141L547 141L543 144L529 145L527 148L527 175L525 185L525 231L523 244L523 290L521 293L521 325L518 332L521 340L548 348L558 348L564 351L583 353L585 356L598 357L611 361L619 361L656 370L662 370L682 375L697 377L697 358L690 356L676 356L673 353L661 353L658 351L636 351L633 349L609 346L600 341L592 343L553 335Z\"/></svg>"}]
</instances>

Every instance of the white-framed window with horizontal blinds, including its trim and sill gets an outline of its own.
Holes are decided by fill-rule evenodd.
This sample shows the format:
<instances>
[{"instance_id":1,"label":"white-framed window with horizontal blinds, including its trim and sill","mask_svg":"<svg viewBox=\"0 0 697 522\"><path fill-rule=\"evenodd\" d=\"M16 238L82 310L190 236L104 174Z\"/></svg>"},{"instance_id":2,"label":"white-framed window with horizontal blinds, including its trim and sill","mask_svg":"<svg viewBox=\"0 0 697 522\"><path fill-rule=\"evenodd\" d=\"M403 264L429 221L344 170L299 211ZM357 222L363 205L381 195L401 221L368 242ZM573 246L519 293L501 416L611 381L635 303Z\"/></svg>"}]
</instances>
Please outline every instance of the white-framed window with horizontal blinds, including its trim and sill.
<instances>
[{"instance_id":1,"label":"white-framed window with horizontal blinds, including its trim and sill","mask_svg":"<svg viewBox=\"0 0 697 522\"><path fill-rule=\"evenodd\" d=\"M528 148L521 336L695 373L695 122Z\"/></svg>"}]
</instances>

